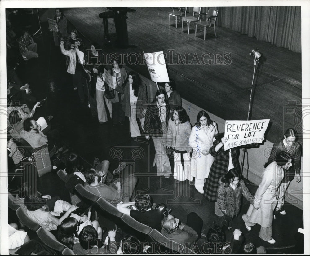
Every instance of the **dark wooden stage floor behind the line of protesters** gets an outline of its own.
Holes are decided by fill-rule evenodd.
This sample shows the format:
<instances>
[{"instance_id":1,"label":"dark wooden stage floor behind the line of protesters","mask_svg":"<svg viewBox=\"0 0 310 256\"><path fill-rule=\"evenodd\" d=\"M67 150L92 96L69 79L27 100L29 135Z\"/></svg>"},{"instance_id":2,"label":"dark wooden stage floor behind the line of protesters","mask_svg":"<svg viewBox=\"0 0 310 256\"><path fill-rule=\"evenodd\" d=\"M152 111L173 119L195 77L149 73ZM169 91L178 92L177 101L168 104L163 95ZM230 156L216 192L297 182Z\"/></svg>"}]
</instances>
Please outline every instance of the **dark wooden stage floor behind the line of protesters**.
<instances>
[{"instance_id":1,"label":"dark wooden stage floor behind the line of protesters","mask_svg":"<svg viewBox=\"0 0 310 256\"><path fill-rule=\"evenodd\" d=\"M286 113L287 108L296 112L296 105L302 98L300 53L222 27L216 28L217 38L211 29L204 41L203 31L197 31L195 37L193 25L189 35L185 24L183 32L181 23L175 28L171 19L168 25L169 7L134 9L135 12L127 13L127 27L129 44L137 47L104 48L105 51L137 54L163 51L167 54L169 77L176 81L177 90L184 99L224 120L246 120L254 69L254 58L249 53L258 48L263 57L255 76L251 119L270 119L266 139L272 142L281 139L287 128L301 131L298 125L301 117ZM84 36L102 45L104 31L98 14L104 11L108 10L68 8L64 13ZM110 33L115 33L113 19L108 21ZM169 50L173 52L172 57ZM193 61L195 56L201 61L204 53L207 53L205 64ZM188 54L189 64L177 64L177 54L182 58ZM131 65L128 62L127 65L149 77L145 64Z\"/></svg>"}]
</instances>

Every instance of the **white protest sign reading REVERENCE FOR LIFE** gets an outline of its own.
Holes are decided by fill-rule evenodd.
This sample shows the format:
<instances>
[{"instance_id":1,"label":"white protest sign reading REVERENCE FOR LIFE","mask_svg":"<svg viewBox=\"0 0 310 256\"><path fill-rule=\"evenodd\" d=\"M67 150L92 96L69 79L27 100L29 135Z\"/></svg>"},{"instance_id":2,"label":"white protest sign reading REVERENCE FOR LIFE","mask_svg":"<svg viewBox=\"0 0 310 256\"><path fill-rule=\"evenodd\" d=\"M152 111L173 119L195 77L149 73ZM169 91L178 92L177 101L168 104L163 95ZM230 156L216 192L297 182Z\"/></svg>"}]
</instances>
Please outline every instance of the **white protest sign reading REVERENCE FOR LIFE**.
<instances>
[{"instance_id":1,"label":"white protest sign reading REVERENCE FOR LIFE","mask_svg":"<svg viewBox=\"0 0 310 256\"><path fill-rule=\"evenodd\" d=\"M270 119L262 120L228 120L225 122L227 142L224 150L252 143L262 143Z\"/></svg>"}]
</instances>

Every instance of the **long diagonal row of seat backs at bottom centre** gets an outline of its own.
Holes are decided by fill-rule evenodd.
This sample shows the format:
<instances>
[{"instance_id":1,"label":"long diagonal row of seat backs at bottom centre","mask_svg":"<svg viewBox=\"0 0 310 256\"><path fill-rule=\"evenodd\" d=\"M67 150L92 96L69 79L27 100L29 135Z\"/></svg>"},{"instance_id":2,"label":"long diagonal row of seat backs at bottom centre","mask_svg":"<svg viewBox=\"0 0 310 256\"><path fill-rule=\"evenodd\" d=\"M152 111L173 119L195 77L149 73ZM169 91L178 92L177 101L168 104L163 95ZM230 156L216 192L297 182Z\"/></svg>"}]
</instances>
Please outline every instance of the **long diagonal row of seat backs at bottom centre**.
<instances>
[{"instance_id":1,"label":"long diagonal row of seat backs at bottom centre","mask_svg":"<svg viewBox=\"0 0 310 256\"><path fill-rule=\"evenodd\" d=\"M92 204L99 210L105 218L113 221L118 227L121 227L124 232L136 236L141 241L147 241L152 245L156 244L156 251L153 253L179 253L179 254L194 254L192 250L167 239L156 229L152 229L117 210L108 201L87 191L81 184L75 186L76 191L82 197L82 200L88 204ZM152 247L152 246L151 246ZM155 247L153 247L155 248ZM152 249L153 249L152 248Z\"/></svg>"}]
</instances>

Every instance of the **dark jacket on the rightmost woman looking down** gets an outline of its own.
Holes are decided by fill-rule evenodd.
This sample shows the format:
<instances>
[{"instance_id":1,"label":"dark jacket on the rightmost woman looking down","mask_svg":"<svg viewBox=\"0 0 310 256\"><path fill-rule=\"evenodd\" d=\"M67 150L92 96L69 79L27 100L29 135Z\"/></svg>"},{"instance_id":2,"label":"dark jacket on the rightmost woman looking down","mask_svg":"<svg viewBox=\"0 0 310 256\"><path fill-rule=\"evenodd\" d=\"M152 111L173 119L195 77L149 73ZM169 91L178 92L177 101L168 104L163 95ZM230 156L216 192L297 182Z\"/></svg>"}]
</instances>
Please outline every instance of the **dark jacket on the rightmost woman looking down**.
<instances>
[{"instance_id":1,"label":"dark jacket on the rightmost woman looking down","mask_svg":"<svg viewBox=\"0 0 310 256\"><path fill-rule=\"evenodd\" d=\"M290 148L287 148L284 146L283 140L273 144L268 162L265 166L268 163L273 162L276 159L277 154L281 151L287 152L292 157L292 166L288 170L284 170L283 182L292 181L294 179L295 172L300 175L302 146L300 143L295 142Z\"/></svg>"}]
</instances>

